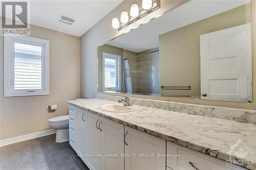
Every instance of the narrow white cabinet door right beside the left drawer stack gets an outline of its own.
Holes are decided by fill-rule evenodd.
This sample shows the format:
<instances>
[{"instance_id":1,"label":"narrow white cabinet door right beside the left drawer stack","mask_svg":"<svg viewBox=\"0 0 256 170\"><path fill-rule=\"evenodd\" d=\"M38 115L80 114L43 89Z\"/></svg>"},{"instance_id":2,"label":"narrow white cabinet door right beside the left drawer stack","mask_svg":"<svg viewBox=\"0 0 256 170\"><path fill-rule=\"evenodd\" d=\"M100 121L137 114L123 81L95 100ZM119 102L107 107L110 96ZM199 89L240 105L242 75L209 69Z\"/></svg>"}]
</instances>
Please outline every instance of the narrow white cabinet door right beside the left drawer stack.
<instances>
[{"instance_id":1,"label":"narrow white cabinet door right beside the left drawer stack","mask_svg":"<svg viewBox=\"0 0 256 170\"><path fill-rule=\"evenodd\" d=\"M87 112L85 110L76 109L77 111L77 152L81 159L86 162L87 153Z\"/></svg>"}]
</instances>

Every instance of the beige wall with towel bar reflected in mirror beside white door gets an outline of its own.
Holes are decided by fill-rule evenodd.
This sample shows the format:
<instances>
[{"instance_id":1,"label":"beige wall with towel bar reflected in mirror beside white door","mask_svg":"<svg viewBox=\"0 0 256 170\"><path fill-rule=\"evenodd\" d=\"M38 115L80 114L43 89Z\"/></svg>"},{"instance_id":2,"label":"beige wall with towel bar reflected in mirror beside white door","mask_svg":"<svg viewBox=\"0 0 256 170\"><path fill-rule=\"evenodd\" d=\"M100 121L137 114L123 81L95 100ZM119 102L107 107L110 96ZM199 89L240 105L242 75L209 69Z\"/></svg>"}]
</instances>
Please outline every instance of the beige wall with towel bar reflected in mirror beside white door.
<instances>
[{"instance_id":1,"label":"beige wall with towel bar reflected in mirror beside white door","mask_svg":"<svg viewBox=\"0 0 256 170\"><path fill-rule=\"evenodd\" d=\"M248 23L249 13L250 4L160 35L160 84L192 87L191 90L161 90L161 93L200 98L200 35Z\"/></svg>"}]
</instances>

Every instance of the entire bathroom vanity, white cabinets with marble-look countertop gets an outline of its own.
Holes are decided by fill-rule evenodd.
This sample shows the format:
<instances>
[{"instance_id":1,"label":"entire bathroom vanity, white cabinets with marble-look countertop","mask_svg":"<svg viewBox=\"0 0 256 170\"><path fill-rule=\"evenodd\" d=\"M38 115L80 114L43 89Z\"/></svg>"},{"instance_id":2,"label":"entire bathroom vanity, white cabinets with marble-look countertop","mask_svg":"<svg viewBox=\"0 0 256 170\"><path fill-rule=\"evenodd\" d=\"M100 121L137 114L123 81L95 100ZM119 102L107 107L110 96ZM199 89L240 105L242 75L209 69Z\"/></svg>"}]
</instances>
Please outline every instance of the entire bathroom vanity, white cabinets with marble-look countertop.
<instances>
[{"instance_id":1,"label":"entire bathroom vanity, white cabinets with marble-look countertop","mask_svg":"<svg viewBox=\"0 0 256 170\"><path fill-rule=\"evenodd\" d=\"M226 163L238 139L251 151L244 167L255 169L254 124L142 106L108 112L99 107L118 103L102 99L68 103L70 145L90 169L245 169Z\"/></svg>"}]
</instances>

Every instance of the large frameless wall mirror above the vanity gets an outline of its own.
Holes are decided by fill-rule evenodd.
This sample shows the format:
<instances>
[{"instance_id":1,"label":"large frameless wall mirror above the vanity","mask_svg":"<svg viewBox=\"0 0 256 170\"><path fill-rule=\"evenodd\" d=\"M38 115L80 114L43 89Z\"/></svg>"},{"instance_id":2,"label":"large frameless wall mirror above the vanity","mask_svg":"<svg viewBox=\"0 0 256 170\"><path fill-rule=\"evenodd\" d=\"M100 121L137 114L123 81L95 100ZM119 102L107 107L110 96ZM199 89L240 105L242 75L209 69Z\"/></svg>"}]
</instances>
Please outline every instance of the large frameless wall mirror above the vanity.
<instances>
[{"instance_id":1,"label":"large frameless wall mirror above the vanity","mask_svg":"<svg viewBox=\"0 0 256 170\"><path fill-rule=\"evenodd\" d=\"M98 91L252 102L250 1L188 1L98 47Z\"/></svg>"}]
</instances>

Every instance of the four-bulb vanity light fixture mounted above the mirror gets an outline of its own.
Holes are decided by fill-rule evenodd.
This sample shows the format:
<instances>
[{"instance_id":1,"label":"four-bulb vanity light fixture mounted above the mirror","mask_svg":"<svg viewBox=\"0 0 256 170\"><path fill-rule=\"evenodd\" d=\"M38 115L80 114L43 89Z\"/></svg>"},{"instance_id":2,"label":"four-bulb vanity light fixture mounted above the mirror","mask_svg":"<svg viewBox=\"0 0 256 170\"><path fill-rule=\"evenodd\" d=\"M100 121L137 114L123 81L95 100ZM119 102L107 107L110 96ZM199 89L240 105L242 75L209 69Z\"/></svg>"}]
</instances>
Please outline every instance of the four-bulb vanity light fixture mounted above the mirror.
<instances>
[{"instance_id":1,"label":"four-bulb vanity light fixture mounted above the mirror","mask_svg":"<svg viewBox=\"0 0 256 170\"><path fill-rule=\"evenodd\" d=\"M121 12L120 21L119 21L119 18L117 17L114 17L112 19L112 27L120 31L121 29L131 25L135 21L139 20L140 18L143 18L144 16L150 14L151 12L159 8L160 8L160 0L155 0L154 2L152 2L152 0L143 0L142 9L139 9L138 4L133 3L130 8L130 16L129 16L129 13L124 9ZM159 17L159 16L156 16L156 17ZM147 20L143 24L149 21L150 20ZM138 27L135 27L134 29L136 28Z\"/></svg>"}]
</instances>

